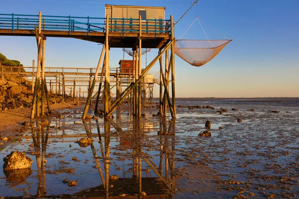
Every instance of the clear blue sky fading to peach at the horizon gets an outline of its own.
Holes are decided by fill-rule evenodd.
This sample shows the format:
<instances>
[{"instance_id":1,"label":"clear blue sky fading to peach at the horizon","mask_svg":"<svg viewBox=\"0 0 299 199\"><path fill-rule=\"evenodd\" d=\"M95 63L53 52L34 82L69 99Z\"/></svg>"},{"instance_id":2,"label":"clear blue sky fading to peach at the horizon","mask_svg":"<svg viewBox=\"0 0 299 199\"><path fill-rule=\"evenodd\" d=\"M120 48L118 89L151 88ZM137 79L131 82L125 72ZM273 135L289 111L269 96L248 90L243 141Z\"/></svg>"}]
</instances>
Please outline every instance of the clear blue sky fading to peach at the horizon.
<instances>
[{"instance_id":1,"label":"clear blue sky fading to peach at the horizon","mask_svg":"<svg viewBox=\"0 0 299 199\"><path fill-rule=\"evenodd\" d=\"M165 6L177 20L192 4L183 0L0 0L0 13L104 17L105 4ZM298 0L198 0L175 26L178 38L196 15L233 39L213 60L193 67L175 57L177 97L299 97ZM221 35L203 24L209 39ZM205 39L195 22L184 39ZM96 67L101 46L71 38L48 38L46 66ZM37 59L34 37L0 36L0 53L31 66ZM149 63L157 54L152 49ZM111 67L123 58L111 49ZM125 59L131 59L126 55ZM146 64L142 58L143 68ZM155 65L152 71L158 72ZM157 88L157 87L156 87ZM154 92L154 93L158 93Z\"/></svg>"}]
</instances>

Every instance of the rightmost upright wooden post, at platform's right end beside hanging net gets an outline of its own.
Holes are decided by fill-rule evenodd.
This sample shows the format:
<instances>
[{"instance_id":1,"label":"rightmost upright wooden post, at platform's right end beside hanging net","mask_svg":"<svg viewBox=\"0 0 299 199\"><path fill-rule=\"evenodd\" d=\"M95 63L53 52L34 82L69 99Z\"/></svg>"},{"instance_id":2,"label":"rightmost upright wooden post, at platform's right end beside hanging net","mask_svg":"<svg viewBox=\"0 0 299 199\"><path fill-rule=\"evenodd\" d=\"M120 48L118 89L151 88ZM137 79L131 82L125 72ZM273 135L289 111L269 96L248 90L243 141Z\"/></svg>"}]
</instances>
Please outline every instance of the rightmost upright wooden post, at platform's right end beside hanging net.
<instances>
[{"instance_id":1,"label":"rightmost upright wooden post, at platform's right end beside hanging net","mask_svg":"<svg viewBox=\"0 0 299 199\"><path fill-rule=\"evenodd\" d=\"M174 44L175 44L175 38L174 38L174 28L173 28L173 18L172 15L170 15L170 30L171 30L171 40L174 41L171 45L171 91L172 91L172 106L173 106L173 116L176 117L176 111L175 111L175 73L174 73ZM173 117L172 117L173 118Z\"/></svg>"}]
</instances>

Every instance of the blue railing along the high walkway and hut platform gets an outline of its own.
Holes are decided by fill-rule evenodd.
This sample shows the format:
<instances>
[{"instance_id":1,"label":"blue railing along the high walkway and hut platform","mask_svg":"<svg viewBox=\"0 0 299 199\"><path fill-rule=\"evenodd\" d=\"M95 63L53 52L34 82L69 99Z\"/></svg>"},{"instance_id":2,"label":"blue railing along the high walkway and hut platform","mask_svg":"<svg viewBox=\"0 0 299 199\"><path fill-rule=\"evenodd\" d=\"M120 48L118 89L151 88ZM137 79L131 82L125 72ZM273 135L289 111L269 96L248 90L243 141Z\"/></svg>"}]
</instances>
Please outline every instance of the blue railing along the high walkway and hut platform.
<instances>
[{"instance_id":1,"label":"blue railing along the high walkway and hut platform","mask_svg":"<svg viewBox=\"0 0 299 199\"><path fill-rule=\"evenodd\" d=\"M78 17L78 16L52 16L42 15L41 29L52 31L72 32L105 32L106 18ZM34 30L38 27L38 15L29 14L0 14L0 29ZM139 19L109 18L109 32L126 33L139 32ZM142 20L142 32L156 34L170 33L170 20L146 19Z\"/></svg>"}]
</instances>

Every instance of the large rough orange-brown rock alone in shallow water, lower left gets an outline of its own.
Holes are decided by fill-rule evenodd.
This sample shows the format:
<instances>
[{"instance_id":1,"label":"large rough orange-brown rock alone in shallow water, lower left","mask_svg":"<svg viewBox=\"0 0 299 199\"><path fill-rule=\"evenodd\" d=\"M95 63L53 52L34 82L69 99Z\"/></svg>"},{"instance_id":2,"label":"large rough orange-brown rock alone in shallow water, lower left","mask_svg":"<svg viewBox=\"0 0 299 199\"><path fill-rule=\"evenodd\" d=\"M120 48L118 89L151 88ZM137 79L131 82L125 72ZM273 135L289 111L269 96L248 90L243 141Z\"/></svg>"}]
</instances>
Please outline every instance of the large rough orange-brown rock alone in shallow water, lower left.
<instances>
[{"instance_id":1,"label":"large rough orange-brown rock alone in shallow water, lower left","mask_svg":"<svg viewBox=\"0 0 299 199\"><path fill-rule=\"evenodd\" d=\"M4 170L14 170L14 169L27 169L31 167L32 160L27 157L24 153L19 151L13 151L5 158L3 158Z\"/></svg>"}]
</instances>

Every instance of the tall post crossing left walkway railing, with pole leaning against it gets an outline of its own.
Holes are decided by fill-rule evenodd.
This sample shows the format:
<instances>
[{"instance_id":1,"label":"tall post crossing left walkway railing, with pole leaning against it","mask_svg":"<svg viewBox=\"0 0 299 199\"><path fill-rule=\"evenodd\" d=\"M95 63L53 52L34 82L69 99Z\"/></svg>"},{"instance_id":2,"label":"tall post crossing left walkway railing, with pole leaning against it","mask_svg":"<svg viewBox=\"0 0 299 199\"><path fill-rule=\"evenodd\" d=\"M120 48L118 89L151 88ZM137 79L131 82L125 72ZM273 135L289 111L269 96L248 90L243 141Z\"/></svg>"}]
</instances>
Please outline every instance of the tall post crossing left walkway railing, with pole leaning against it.
<instances>
[{"instance_id":1,"label":"tall post crossing left walkway railing, with pole leaning against it","mask_svg":"<svg viewBox=\"0 0 299 199\"><path fill-rule=\"evenodd\" d=\"M40 35L41 33L41 11L38 14L38 33L35 34ZM36 116L39 117L39 87L40 87L40 64L41 64L41 53L42 53L42 42L41 37L38 36L37 39L37 71L36 71L36 78L35 78L35 85L34 85L34 92L33 92L33 99L32 99L32 107L31 107L31 114L30 118L34 119L34 113L36 108Z\"/></svg>"}]
</instances>

